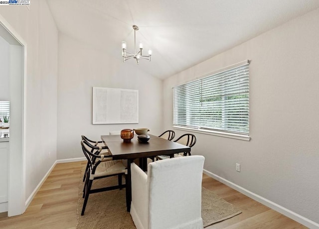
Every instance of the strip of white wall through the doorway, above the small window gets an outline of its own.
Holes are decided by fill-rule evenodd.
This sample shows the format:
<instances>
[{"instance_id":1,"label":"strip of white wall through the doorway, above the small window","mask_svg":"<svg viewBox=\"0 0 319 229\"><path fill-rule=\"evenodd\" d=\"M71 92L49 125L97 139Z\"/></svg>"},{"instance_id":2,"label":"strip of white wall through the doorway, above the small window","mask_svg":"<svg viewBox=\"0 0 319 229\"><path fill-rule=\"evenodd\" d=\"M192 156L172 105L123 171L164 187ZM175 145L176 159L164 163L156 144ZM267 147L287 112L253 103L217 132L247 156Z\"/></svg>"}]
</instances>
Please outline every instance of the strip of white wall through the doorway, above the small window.
<instances>
[{"instance_id":1,"label":"strip of white wall through the doorway, above the small window","mask_svg":"<svg viewBox=\"0 0 319 229\"><path fill-rule=\"evenodd\" d=\"M0 101L9 101L9 43L1 36L0 50Z\"/></svg>"}]
</instances>

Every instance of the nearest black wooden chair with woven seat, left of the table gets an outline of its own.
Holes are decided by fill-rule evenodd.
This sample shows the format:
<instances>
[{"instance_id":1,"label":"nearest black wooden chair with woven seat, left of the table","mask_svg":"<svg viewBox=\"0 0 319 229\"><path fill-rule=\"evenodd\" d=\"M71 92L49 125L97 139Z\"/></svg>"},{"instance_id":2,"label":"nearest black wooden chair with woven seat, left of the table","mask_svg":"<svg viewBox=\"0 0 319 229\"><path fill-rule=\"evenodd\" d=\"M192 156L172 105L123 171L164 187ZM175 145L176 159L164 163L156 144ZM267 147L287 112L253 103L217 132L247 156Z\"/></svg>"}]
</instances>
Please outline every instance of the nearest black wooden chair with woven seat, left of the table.
<instances>
[{"instance_id":1,"label":"nearest black wooden chair with woven seat, left of the table","mask_svg":"<svg viewBox=\"0 0 319 229\"><path fill-rule=\"evenodd\" d=\"M88 202L90 194L125 188L125 184L122 184L122 176L127 173L127 169L125 168L121 160L112 160L112 155L96 155L94 153L91 153L88 150L88 144L89 143L87 141L81 140L83 153L89 163L83 190L84 203L81 216L84 215L86 204ZM93 146L93 148L95 150L99 149L99 147L97 146ZM116 175L118 176L118 185L91 189L94 180L108 178Z\"/></svg>"}]
</instances>

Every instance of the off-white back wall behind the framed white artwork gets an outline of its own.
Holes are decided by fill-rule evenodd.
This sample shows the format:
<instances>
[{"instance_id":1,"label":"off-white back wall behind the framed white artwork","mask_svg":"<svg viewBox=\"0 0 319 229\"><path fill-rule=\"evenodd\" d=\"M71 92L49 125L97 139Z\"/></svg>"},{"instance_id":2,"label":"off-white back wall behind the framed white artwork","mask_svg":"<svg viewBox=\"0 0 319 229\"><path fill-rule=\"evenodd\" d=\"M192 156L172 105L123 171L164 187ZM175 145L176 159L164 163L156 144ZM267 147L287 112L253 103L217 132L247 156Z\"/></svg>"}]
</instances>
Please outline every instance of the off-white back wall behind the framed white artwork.
<instances>
[{"instance_id":1,"label":"off-white back wall behind the framed white artwork","mask_svg":"<svg viewBox=\"0 0 319 229\"><path fill-rule=\"evenodd\" d=\"M101 135L124 128L149 128L156 135L163 131L162 81L143 72L147 61L140 65L134 60L123 63L121 52L109 56L103 48L62 33L58 47L58 159L84 157L82 134L100 140ZM139 123L93 125L92 87L139 90Z\"/></svg>"}]
</instances>

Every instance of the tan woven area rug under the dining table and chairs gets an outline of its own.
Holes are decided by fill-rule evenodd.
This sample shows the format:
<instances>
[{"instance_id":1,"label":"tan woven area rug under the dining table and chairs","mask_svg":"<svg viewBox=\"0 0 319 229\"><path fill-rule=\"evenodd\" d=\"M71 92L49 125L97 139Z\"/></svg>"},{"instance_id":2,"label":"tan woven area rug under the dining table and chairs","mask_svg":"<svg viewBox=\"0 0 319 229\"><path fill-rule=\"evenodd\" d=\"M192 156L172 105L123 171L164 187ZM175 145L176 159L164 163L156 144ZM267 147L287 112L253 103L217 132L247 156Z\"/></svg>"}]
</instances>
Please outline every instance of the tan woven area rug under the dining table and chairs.
<instances>
[{"instance_id":1,"label":"tan woven area rug under the dining table and chairs","mask_svg":"<svg viewBox=\"0 0 319 229\"><path fill-rule=\"evenodd\" d=\"M83 170L83 169L82 169ZM81 172L83 178L83 172ZM92 189L117 185L117 176L93 181ZM125 182L125 179L123 179ZM82 179L79 185L77 229L136 229L130 213L126 211L125 189L94 193L89 196L84 216ZM227 220L241 211L213 192L202 188L202 219L204 227Z\"/></svg>"}]
</instances>

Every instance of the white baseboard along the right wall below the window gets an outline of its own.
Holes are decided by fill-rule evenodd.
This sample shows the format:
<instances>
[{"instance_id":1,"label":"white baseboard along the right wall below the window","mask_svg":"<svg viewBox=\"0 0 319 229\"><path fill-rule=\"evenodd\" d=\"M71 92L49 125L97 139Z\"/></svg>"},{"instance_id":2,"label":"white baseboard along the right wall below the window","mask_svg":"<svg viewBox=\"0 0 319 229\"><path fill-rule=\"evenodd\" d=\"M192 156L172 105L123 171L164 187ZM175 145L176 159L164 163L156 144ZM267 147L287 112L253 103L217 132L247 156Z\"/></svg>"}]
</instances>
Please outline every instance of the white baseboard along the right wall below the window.
<instances>
[{"instance_id":1,"label":"white baseboard along the right wall below the window","mask_svg":"<svg viewBox=\"0 0 319 229\"><path fill-rule=\"evenodd\" d=\"M263 204L263 205L266 205L267 207L289 217L290 219L294 220L294 221L297 221L298 223L302 224L302 225L305 225L306 227L310 228L310 229L319 229L319 224L314 222L314 221L311 221L309 219L307 219L306 217L303 217L293 211L290 211L289 209L283 207L283 206L280 206L262 196L259 196L247 189L244 189L243 187L239 186L239 185L236 185L235 183L231 182L231 181L228 181L212 172L209 172L207 171L206 169L203 170L203 173L214 178L215 180L218 180L220 181L221 183L237 190L238 192L250 197L251 199L255 200L255 201L258 201L259 203Z\"/></svg>"}]
</instances>

